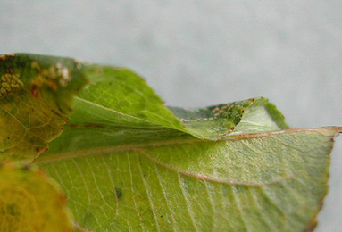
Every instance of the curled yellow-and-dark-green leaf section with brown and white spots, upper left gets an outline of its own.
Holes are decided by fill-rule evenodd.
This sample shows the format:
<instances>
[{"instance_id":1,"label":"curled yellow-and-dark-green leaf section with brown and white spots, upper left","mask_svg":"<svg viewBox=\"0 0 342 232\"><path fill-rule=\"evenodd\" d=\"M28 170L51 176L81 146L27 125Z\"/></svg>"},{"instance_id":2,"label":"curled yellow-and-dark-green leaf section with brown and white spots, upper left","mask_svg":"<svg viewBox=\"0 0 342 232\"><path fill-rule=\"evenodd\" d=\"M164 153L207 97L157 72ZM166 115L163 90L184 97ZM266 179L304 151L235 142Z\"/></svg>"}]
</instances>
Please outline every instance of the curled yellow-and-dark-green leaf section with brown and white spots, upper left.
<instances>
[{"instance_id":1,"label":"curled yellow-and-dark-green leaf section with brown and white spots, upper left","mask_svg":"<svg viewBox=\"0 0 342 232\"><path fill-rule=\"evenodd\" d=\"M47 150L71 114L71 100L86 79L71 59L0 56L0 161L26 160Z\"/></svg>"}]
</instances>

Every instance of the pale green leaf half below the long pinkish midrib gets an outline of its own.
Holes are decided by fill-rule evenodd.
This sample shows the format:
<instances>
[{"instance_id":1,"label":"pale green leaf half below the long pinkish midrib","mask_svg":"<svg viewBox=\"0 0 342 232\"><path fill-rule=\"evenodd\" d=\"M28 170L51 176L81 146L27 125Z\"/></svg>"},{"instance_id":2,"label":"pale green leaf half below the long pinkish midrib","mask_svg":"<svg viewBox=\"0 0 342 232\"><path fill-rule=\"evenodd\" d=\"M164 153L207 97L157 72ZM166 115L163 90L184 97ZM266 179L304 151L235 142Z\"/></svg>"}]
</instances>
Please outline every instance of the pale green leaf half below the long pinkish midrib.
<instances>
[{"instance_id":1,"label":"pale green leaf half below the long pinkish midrib","mask_svg":"<svg viewBox=\"0 0 342 232\"><path fill-rule=\"evenodd\" d=\"M304 231L327 193L338 129L88 148L41 166L94 231Z\"/></svg>"}]
</instances>

